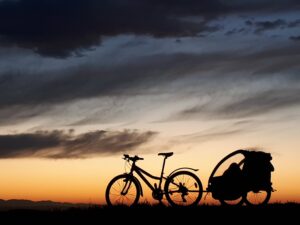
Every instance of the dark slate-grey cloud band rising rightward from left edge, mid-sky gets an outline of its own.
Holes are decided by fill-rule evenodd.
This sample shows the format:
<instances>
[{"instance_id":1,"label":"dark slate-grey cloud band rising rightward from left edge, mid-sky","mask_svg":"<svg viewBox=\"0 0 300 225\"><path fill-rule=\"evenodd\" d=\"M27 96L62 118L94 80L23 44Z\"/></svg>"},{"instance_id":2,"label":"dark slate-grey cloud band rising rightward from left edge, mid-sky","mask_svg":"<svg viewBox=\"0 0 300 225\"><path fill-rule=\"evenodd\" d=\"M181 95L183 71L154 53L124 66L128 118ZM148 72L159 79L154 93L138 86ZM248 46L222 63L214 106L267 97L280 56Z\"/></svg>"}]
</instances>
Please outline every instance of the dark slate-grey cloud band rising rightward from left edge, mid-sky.
<instances>
[{"instance_id":1,"label":"dark slate-grey cloud band rising rightward from left edge, mid-sky","mask_svg":"<svg viewBox=\"0 0 300 225\"><path fill-rule=\"evenodd\" d=\"M0 76L0 109L40 106L99 96L137 95L146 87L168 83L224 54L156 54L116 66L84 65L43 74ZM210 63L206 65L205 63ZM154 69L155 68L155 69ZM11 91L16 90L16 91Z\"/></svg>"}]
</instances>

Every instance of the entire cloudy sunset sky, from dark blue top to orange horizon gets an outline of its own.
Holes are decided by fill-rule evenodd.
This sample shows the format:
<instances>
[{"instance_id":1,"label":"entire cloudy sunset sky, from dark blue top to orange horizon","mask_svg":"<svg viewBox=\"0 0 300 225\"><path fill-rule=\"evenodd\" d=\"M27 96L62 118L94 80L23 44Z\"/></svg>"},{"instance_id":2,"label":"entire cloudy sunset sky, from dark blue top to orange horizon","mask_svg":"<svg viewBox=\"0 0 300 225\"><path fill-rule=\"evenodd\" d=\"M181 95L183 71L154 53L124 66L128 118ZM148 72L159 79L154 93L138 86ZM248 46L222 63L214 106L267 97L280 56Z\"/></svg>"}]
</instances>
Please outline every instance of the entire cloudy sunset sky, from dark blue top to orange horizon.
<instances>
[{"instance_id":1,"label":"entire cloudy sunset sky, from dark blue top to orange horizon","mask_svg":"<svg viewBox=\"0 0 300 225\"><path fill-rule=\"evenodd\" d=\"M157 153L173 151L166 174L198 168L206 188L223 157L258 149L273 156L271 201L300 202L299 12L0 0L0 198L103 204L124 153L158 174Z\"/></svg>"}]
</instances>

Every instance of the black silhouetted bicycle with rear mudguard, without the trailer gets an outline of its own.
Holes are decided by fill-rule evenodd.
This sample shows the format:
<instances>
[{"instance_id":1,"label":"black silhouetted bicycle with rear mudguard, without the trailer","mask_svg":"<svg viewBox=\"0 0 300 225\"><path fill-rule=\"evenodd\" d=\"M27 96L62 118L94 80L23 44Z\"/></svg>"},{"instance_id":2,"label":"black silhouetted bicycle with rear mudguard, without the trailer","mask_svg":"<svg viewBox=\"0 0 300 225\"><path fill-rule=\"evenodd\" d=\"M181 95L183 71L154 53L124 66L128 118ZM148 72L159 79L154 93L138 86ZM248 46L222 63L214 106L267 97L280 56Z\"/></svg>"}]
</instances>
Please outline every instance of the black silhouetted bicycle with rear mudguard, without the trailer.
<instances>
[{"instance_id":1,"label":"black silhouetted bicycle with rear mudguard, without the trailer","mask_svg":"<svg viewBox=\"0 0 300 225\"><path fill-rule=\"evenodd\" d=\"M143 189L134 172L152 190L152 197L160 203L165 196L171 206L197 205L203 194L202 183L194 173L198 169L182 167L164 177L166 159L172 156L173 152L159 153L158 155L164 156L164 160L160 176L154 176L136 165L136 162L143 160L143 158L139 156L130 157L125 154L123 159L129 164L131 163L130 172L118 175L109 182L105 192L107 205L132 206L139 202L140 196L143 196ZM157 183L152 185L144 175L158 180L158 185ZM163 181L165 184L162 189Z\"/></svg>"}]
</instances>

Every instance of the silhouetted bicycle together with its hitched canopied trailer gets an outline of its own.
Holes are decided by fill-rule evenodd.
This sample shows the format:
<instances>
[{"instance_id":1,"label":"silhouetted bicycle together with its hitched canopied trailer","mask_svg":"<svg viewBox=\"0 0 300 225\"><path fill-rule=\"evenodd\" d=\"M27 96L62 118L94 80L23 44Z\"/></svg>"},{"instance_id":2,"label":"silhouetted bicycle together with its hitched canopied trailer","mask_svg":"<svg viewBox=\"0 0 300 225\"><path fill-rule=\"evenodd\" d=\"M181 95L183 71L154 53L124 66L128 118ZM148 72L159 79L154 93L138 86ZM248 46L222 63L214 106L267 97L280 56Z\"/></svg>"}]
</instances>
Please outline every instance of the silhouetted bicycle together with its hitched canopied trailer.
<instances>
[{"instance_id":1,"label":"silhouetted bicycle together with its hitched canopied trailer","mask_svg":"<svg viewBox=\"0 0 300 225\"><path fill-rule=\"evenodd\" d=\"M222 205L266 205L274 191L271 182L274 167L270 153L240 149L228 154L213 169L206 190L203 190L200 179L194 173L197 169L181 167L164 177L166 159L172 156L173 152L158 155L164 156L160 177L153 176L136 165L136 162L143 158L124 155L123 159L132 163L130 172L118 175L110 181L105 194L107 204L138 203L140 196L143 196L143 189L134 172L152 190L154 199L161 202L165 196L172 206L197 205L203 192L211 193ZM229 167L225 167L226 170L219 173L228 162ZM152 185L144 175L159 180L158 185ZM162 189L163 181L165 183Z\"/></svg>"}]
</instances>

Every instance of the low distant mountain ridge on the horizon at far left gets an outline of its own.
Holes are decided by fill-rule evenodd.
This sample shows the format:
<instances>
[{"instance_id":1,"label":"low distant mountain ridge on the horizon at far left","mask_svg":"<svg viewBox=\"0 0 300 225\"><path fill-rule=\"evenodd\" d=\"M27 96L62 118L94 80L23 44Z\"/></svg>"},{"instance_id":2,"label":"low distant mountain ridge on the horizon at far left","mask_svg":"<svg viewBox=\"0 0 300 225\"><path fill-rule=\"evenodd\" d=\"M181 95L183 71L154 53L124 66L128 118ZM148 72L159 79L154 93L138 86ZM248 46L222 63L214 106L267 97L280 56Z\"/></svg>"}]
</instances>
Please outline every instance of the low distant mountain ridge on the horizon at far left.
<instances>
[{"instance_id":1,"label":"low distant mountain ridge on the horizon at far left","mask_svg":"<svg viewBox=\"0 0 300 225\"><path fill-rule=\"evenodd\" d=\"M69 208L88 208L95 205L84 203L67 203L67 202L53 202L53 201L31 201L25 199L0 199L0 210L13 210L13 209L69 209Z\"/></svg>"}]
</instances>

